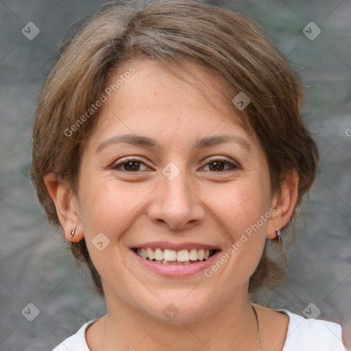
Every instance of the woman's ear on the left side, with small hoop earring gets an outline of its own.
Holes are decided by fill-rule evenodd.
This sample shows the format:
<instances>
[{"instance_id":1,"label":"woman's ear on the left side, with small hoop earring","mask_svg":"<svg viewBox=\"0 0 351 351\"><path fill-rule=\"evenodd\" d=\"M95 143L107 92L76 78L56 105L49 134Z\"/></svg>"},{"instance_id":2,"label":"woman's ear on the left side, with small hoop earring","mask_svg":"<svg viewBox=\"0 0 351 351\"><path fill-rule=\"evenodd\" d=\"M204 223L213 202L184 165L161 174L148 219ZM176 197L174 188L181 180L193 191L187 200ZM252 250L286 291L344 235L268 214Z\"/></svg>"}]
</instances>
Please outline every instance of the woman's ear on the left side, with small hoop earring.
<instances>
[{"instance_id":1,"label":"woman's ear on the left side, with small hoop earring","mask_svg":"<svg viewBox=\"0 0 351 351\"><path fill-rule=\"evenodd\" d=\"M66 182L59 180L54 173L45 175L44 182L56 206L56 212L64 230L64 236L68 241L80 241L84 237L84 232L80 221L76 195L71 187ZM71 239L73 229L75 229L75 234Z\"/></svg>"}]
</instances>

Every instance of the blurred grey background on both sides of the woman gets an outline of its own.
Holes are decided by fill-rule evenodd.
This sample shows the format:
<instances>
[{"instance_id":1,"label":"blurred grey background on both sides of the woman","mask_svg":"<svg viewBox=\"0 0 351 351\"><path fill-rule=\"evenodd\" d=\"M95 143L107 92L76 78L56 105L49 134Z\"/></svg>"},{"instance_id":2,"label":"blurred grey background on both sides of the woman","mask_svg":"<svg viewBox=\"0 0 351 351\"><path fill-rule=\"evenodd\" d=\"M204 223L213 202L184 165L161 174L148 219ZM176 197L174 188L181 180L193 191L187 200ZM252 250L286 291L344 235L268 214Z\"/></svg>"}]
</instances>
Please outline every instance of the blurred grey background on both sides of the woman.
<instances>
[{"instance_id":1,"label":"blurred grey background on both sides of the woman","mask_svg":"<svg viewBox=\"0 0 351 351\"><path fill-rule=\"evenodd\" d=\"M105 313L90 277L75 268L64 241L48 226L28 178L38 92L69 27L102 3L0 1L1 351L51 350ZM318 179L290 250L289 280L266 291L263 300L299 315L313 302L322 311L319 318L339 322L350 332L351 2L227 3L261 23L302 76L304 118L321 154ZM32 40L21 32L29 22L40 30ZM303 32L310 22L321 29L313 40ZM312 27L310 37L316 30Z\"/></svg>"}]
</instances>

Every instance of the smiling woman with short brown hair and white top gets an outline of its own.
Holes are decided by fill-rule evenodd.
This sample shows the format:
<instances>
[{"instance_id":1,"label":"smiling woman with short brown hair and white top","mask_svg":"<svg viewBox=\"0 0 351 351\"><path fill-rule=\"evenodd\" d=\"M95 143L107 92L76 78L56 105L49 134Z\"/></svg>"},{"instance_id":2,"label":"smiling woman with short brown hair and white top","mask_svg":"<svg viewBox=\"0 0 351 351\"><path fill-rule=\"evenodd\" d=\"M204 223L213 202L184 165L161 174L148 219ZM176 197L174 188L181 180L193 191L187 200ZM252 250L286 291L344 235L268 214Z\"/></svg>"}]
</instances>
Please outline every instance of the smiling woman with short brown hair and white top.
<instances>
[{"instance_id":1,"label":"smiling woman with short brown hair and white top","mask_svg":"<svg viewBox=\"0 0 351 351\"><path fill-rule=\"evenodd\" d=\"M60 350L344 350L341 327L250 302L280 282L318 152L302 83L244 16L102 8L41 93L32 179L107 314Z\"/></svg>"}]
</instances>

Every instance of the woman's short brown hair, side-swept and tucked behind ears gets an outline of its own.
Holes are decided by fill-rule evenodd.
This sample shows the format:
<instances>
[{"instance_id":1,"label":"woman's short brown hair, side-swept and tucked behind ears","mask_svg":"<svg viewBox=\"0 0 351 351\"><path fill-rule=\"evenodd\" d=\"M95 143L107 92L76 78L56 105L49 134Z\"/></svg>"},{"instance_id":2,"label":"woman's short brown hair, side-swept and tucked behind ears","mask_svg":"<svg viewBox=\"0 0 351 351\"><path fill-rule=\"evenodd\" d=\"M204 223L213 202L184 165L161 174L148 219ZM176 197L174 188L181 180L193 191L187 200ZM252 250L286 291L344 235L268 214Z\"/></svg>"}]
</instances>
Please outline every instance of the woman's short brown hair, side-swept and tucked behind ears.
<instances>
[{"instance_id":1,"label":"woman's short brown hair, side-swept and tucked behind ears","mask_svg":"<svg viewBox=\"0 0 351 351\"><path fill-rule=\"evenodd\" d=\"M231 108L265 150L272 190L279 192L285 173L296 171L300 177L296 206L300 204L315 179L318 152L300 116L304 87L289 62L242 14L195 0L149 4L130 0L107 3L82 25L64 45L38 100L32 180L51 223L60 225L43 178L56 173L76 189L80 151L93 132L98 110L71 136L65 131L99 99L112 70L145 57L159 62L191 60L220 77ZM230 102L239 92L250 97L243 111ZM293 226L288 227L283 231L285 239L293 237ZM103 295L84 239L72 243L71 251L77 261L88 265ZM250 278L250 292L280 282L286 265L287 257L267 240Z\"/></svg>"}]
</instances>

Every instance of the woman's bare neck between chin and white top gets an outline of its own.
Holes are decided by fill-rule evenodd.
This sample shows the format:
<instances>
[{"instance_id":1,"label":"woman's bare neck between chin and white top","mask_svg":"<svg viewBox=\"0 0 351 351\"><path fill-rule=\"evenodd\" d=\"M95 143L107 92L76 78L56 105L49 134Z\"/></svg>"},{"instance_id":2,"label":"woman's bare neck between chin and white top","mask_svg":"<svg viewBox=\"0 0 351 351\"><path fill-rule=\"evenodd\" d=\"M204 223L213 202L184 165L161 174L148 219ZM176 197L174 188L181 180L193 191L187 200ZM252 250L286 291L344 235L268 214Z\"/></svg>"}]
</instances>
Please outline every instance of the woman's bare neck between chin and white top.
<instances>
[{"instance_id":1,"label":"woman's bare neck between chin and white top","mask_svg":"<svg viewBox=\"0 0 351 351\"><path fill-rule=\"evenodd\" d=\"M256 319L247 291L223 308L208 308L208 315L196 322L184 319L180 324L160 322L115 298L106 299L106 307L108 315L99 332L99 348L104 351L258 350ZM214 309L219 312L211 313Z\"/></svg>"}]
</instances>

